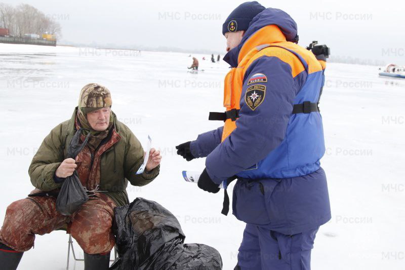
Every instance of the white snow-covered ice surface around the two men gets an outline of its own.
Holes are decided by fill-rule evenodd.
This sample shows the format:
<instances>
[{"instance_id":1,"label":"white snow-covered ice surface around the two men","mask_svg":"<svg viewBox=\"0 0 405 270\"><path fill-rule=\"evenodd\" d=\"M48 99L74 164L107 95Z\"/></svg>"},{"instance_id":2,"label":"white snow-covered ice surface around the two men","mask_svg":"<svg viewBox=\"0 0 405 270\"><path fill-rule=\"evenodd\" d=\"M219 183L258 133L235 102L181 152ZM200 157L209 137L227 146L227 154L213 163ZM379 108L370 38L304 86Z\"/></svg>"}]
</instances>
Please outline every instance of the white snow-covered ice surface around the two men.
<instances>
[{"instance_id":1,"label":"white snow-covered ice surface around the two men","mask_svg":"<svg viewBox=\"0 0 405 270\"><path fill-rule=\"evenodd\" d=\"M215 247L224 269L233 269L244 223L220 214L222 192L183 180L181 171L203 170L204 159L187 163L175 150L221 125L208 121L208 112L223 110L227 64L196 57L204 71L191 73L184 53L0 44L0 222L6 207L33 189L27 171L37 147L70 119L79 90L97 82L110 89L118 119L163 152L158 178L128 187L130 201L163 205L180 220L187 243ZM404 269L405 81L379 78L374 66L331 63L326 74L321 164L333 217L316 236L312 269ZM19 269L64 269L67 240L61 231L37 236ZM83 258L76 243L75 250Z\"/></svg>"}]
</instances>

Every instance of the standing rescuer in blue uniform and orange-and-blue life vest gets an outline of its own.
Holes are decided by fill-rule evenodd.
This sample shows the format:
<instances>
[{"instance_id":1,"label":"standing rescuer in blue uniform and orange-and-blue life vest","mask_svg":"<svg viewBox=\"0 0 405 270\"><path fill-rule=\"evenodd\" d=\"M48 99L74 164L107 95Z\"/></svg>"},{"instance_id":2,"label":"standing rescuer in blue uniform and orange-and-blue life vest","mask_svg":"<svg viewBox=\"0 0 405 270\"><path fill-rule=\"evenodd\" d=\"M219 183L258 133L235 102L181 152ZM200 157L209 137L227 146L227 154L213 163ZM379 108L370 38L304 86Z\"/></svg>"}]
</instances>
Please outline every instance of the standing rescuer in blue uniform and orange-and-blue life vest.
<instances>
[{"instance_id":1,"label":"standing rescuer in blue uniform and orange-and-blue life vest","mask_svg":"<svg viewBox=\"0 0 405 270\"><path fill-rule=\"evenodd\" d=\"M298 46L297 24L257 2L223 24L225 113L217 130L176 148L187 161L207 157L198 187L218 192L236 176L232 210L246 222L235 269L310 269L320 225L331 219L318 100L325 63Z\"/></svg>"}]
</instances>

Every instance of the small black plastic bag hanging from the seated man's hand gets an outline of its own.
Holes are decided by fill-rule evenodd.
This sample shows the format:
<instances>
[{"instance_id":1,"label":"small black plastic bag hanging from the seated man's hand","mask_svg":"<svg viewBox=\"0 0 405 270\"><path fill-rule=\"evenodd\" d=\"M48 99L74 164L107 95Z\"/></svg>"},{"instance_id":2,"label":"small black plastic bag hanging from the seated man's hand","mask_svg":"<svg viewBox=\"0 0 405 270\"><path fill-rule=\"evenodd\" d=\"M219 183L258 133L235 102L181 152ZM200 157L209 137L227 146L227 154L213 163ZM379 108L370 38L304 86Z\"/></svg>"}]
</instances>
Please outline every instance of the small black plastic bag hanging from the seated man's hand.
<instances>
[{"instance_id":1,"label":"small black plastic bag hanging from the seated man's hand","mask_svg":"<svg viewBox=\"0 0 405 270\"><path fill-rule=\"evenodd\" d=\"M82 129L79 129L74 134L72 140L67 148L67 158L74 159L77 154L82 151L87 141L89 140L90 133L87 135L85 141L79 144L80 134ZM70 216L76 212L82 204L89 200L89 196L86 193L82 183L80 183L77 172L74 171L71 176L66 177L56 200L56 210L61 214Z\"/></svg>"}]
</instances>

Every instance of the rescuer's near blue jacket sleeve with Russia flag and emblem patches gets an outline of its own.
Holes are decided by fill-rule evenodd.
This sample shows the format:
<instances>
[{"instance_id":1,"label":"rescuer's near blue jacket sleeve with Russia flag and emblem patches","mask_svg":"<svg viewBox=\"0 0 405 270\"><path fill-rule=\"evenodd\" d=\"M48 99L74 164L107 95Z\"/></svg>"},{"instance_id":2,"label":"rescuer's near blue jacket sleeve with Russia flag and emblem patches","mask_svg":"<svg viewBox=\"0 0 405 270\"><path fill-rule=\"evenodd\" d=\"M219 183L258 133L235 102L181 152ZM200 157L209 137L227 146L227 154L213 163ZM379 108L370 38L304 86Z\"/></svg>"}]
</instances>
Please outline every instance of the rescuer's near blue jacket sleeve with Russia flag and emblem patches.
<instances>
[{"instance_id":1,"label":"rescuer's near blue jacket sleeve with Russia flag and emblem patches","mask_svg":"<svg viewBox=\"0 0 405 270\"><path fill-rule=\"evenodd\" d=\"M266 80L256 82L257 77ZM219 184L253 166L281 143L296 93L291 66L286 62L263 56L250 65L245 73L236 129L206 160L214 182Z\"/></svg>"}]
</instances>

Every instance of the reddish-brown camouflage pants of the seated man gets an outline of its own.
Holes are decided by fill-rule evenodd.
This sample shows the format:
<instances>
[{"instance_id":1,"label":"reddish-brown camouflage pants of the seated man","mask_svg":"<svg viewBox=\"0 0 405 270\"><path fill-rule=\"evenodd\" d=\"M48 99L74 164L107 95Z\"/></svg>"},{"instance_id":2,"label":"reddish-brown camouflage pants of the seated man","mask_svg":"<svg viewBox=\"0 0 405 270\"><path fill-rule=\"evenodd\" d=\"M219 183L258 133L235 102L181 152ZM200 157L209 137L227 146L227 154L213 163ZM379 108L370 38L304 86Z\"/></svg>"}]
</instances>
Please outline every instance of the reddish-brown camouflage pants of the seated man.
<instances>
[{"instance_id":1,"label":"reddish-brown camouflage pants of the seated man","mask_svg":"<svg viewBox=\"0 0 405 270\"><path fill-rule=\"evenodd\" d=\"M96 193L71 216L56 211L56 198L28 197L7 207L0 230L0 242L24 252L33 244L35 235L49 234L67 223L67 233L88 254L109 252L115 245L111 226L114 202L105 194Z\"/></svg>"}]
</instances>

